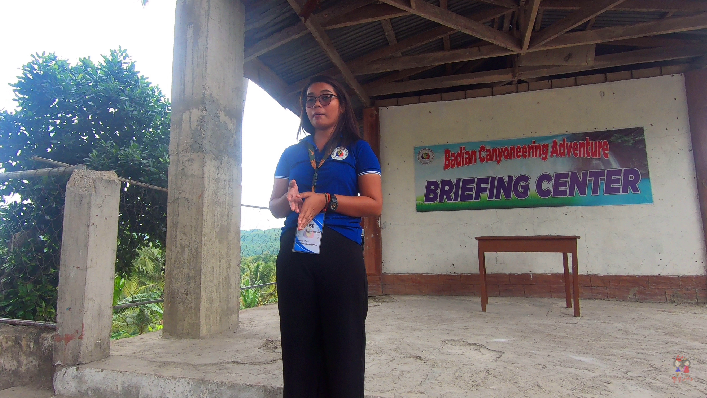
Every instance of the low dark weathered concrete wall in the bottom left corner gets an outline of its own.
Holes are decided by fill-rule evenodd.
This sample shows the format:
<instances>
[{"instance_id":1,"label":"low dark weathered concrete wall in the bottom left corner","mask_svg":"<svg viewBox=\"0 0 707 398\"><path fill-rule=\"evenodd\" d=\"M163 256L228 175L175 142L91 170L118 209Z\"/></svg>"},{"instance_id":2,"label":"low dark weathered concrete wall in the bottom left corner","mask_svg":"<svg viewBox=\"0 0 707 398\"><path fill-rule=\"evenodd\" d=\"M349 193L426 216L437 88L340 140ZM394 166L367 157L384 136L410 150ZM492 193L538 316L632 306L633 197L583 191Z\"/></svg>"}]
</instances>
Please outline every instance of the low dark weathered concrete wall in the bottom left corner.
<instances>
[{"instance_id":1,"label":"low dark weathered concrete wall in the bottom left corner","mask_svg":"<svg viewBox=\"0 0 707 398\"><path fill-rule=\"evenodd\" d=\"M51 329L0 324L0 390L52 387L53 335Z\"/></svg>"}]
</instances>

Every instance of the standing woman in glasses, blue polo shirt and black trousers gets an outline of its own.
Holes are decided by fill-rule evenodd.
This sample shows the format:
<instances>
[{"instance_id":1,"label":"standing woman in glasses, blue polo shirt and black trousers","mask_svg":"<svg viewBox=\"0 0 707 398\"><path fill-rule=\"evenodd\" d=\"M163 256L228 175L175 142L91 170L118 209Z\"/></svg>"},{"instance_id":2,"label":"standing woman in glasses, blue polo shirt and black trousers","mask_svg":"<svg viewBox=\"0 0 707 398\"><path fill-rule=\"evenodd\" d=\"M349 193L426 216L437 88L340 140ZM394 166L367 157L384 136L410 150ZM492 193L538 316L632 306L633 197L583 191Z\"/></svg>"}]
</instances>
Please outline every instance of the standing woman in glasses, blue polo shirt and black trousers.
<instances>
[{"instance_id":1,"label":"standing woman in glasses, blue polo shirt and black trousers","mask_svg":"<svg viewBox=\"0 0 707 398\"><path fill-rule=\"evenodd\" d=\"M286 217L277 257L284 397L359 398L368 312L360 221L381 213L380 164L339 82L313 78L300 102L308 135L283 152L270 198L273 216Z\"/></svg>"}]
</instances>

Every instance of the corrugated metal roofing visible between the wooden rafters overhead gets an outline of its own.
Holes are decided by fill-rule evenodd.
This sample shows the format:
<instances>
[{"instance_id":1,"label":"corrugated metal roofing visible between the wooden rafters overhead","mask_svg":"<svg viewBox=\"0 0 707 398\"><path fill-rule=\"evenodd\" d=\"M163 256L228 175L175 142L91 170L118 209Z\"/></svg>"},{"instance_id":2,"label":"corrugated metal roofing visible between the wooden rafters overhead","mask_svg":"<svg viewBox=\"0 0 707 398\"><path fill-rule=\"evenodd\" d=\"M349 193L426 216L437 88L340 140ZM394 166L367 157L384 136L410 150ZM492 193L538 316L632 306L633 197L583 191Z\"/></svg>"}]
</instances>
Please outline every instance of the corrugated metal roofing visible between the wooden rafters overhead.
<instances>
[{"instance_id":1,"label":"corrugated metal roofing visible between the wooden rafters overhead","mask_svg":"<svg viewBox=\"0 0 707 398\"><path fill-rule=\"evenodd\" d=\"M245 0L244 0L245 1ZM303 0L300 0L303 1ZM350 4L353 0L322 0L315 13L320 13L332 7L337 7L341 4ZM568 0L569 1L569 0ZM438 0L428 0L429 3L439 5ZM707 0L696 0L707 4ZM259 41L281 32L283 29L290 27L303 26L299 17L290 7L287 0L247 0L246 1L246 48L253 46ZM573 3L574 4L574 3ZM584 4L584 3L581 3ZM378 5L378 7L384 7ZM482 11L495 9L497 6L491 5L483 1L471 0L448 0L448 8L450 11L459 15L473 15ZM542 3L541 3L542 7ZM514 10L509 9L509 13ZM541 29L559 22L563 18L572 15L573 10L561 9L543 9L540 23ZM607 11L600 14L593 22L592 29L601 29L611 26L627 26L641 22L656 21L666 17L667 12L655 11ZM690 13L677 12L675 15L692 15ZM419 17L417 15L405 15L390 19L393 27L396 40L398 42L414 37L428 30L439 27L436 22ZM574 30L587 29L588 23L583 23ZM493 26L493 21L487 22L486 26ZM513 27L517 29L517 27ZM704 31L704 30L703 30ZM350 62L361 58L364 55L385 49L389 43L385 36L380 21L366 22L358 25L340 27L335 29L327 29L327 35L334 44L336 51L341 58ZM694 33L694 32L692 32ZM520 34L516 32L516 37ZM683 34L684 36L684 34ZM665 35L661 37L666 37ZM678 37L673 35L672 37ZM682 37L682 36L681 36ZM454 32L449 36L451 49L467 48L475 44L483 44L485 42L465 33ZM610 54L615 52L623 52L627 49L626 46L615 47L610 45L599 44L597 54ZM628 47L630 50L630 47ZM421 44L417 47L407 49L403 55L418 55L432 52L444 51L442 39L436 39L428 43ZM333 63L322 50L319 43L314 40L311 34L306 33L304 36L291 40L271 51L262 54L258 57L263 64L269 67L282 81L286 84L292 84L333 68ZM478 65L474 72L484 70L494 70L496 68L505 68L509 64L509 60L503 58L489 59L479 69ZM676 62L676 61L670 61ZM452 65L452 70L458 69L462 63ZM626 66L623 68L631 68ZM469 68L467 68L469 69ZM464 71L464 68L461 69ZM411 77L411 79L420 79L426 77L445 76L449 72L449 68L440 65L433 67L425 72L419 73ZM395 73L395 72L393 72ZM594 73L594 72L591 72ZM366 76L358 76L357 79L361 84L374 82L376 79L388 76L390 73L375 73ZM444 90L456 90L457 88L443 88ZM429 92L427 90L426 92Z\"/></svg>"}]
</instances>

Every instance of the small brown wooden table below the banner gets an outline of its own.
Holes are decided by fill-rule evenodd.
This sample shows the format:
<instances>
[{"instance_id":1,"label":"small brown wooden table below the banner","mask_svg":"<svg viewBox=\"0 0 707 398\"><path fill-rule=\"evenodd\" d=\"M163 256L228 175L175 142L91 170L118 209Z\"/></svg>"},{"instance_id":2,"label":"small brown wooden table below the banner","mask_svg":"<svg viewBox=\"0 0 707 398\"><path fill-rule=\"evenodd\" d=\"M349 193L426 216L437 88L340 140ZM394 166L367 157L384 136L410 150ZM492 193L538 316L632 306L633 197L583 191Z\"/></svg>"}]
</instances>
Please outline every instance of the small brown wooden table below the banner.
<instances>
[{"instance_id":1,"label":"small brown wooden table below the banner","mask_svg":"<svg viewBox=\"0 0 707 398\"><path fill-rule=\"evenodd\" d=\"M572 308L570 299L570 276L567 255L572 254L572 293L574 296L574 316L579 316L579 276L577 261L577 239L579 236L479 236L479 274L481 275L481 311L486 312L489 302L486 291L486 253L487 252L533 252L562 253L565 266L565 301L567 308Z\"/></svg>"}]
</instances>

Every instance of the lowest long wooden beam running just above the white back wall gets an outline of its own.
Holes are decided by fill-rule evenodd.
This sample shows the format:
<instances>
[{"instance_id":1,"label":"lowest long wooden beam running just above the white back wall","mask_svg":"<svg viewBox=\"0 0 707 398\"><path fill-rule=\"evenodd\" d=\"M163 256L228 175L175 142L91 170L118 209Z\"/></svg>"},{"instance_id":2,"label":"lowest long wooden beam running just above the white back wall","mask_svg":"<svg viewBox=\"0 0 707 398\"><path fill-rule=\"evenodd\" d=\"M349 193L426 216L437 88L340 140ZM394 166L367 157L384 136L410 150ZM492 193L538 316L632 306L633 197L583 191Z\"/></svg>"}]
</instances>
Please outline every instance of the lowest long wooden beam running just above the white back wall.
<instances>
[{"instance_id":1,"label":"lowest long wooden beam running just above the white back wall","mask_svg":"<svg viewBox=\"0 0 707 398\"><path fill-rule=\"evenodd\" d=\"M645 50L635 50L619 54L602 55L595 58L593 65L559 66L559 67L526 67L492 70L469 73L464 75L442 76L429 79L411 80L402 83L371 84L366 88L371 95L388 95L395 93L415 92L444 87L465 86L481 83L505 82L514 79L534 79L539 77L576 73L587 70L604 69L625 65L661 62L674 59L695 58L704 54L704 47L670 47Z\"/></svg>"}]
</instances>

